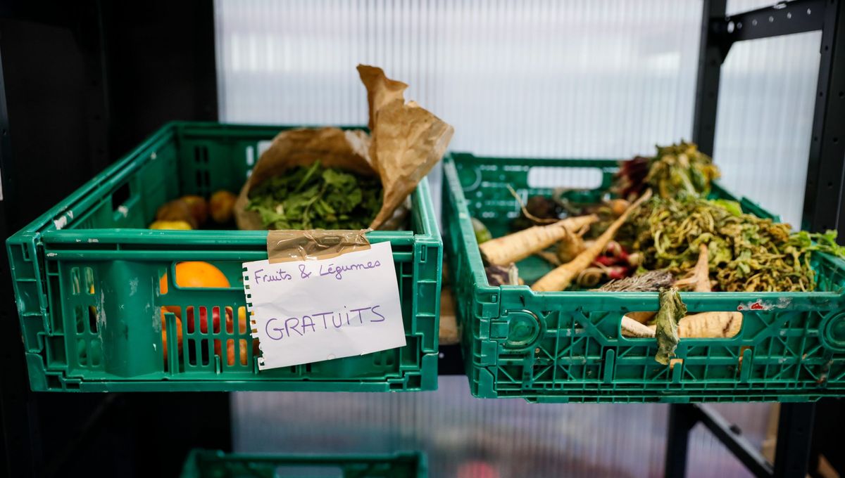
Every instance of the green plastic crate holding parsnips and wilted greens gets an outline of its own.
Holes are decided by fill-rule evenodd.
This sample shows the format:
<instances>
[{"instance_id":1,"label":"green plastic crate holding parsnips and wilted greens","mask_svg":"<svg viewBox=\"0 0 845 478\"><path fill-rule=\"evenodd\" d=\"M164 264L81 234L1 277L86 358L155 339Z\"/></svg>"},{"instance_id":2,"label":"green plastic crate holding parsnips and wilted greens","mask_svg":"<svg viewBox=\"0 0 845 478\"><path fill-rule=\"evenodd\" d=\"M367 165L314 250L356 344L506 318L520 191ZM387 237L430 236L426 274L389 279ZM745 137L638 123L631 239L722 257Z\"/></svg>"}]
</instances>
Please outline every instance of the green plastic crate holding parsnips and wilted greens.
<instances>
[{"instance_id":1,"label":"green plastic crate holding parsnips and wilted greens","mask_svg":"<svg viewBox=\"0 0 845 478\"><path fill-rule=\"evenodd\" d=\"M471 217L493 236L505 234L518 206L506 185L522 195L548 195L561 169L591 171L600 183L573 191L597 200L608 190L615 161L476 158L452 153L444 163L444 244L457 320L462 327L472 394L539 402L803 401L845 395L845 262L816 255L820 291L814 293L682 293L690 312L744 314L729 339L685 339L683 363L654 360L654 339L621 335L628 311L657 310L657 293L535 293L527 286L491 287L484 275ZM733 198L721 187L715 196ZM527 197L523 196L523 197ZM746 212L768 213L747 200ZM523 260L530 284L549 266Z\"/></svg>"}]
</instances>

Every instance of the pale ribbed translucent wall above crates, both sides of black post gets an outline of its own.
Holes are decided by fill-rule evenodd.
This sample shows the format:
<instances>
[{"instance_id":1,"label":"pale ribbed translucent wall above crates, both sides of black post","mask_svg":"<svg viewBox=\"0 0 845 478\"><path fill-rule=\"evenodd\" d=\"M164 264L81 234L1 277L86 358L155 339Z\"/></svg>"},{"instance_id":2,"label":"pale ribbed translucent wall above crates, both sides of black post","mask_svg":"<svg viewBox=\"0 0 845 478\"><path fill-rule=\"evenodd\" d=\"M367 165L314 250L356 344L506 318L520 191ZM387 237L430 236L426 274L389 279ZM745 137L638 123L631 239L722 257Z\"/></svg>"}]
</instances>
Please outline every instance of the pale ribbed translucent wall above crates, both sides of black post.
<instances>
[{"instance_id":1,"label":"pale ribbed translucent wall above crates, both sides of black post","mask_svg":"<svg viewBox=\"0 0 845 478\"><path fill-rule=\"evenodd\" d=\"M771 3L731 1L728 13ZM455 126L459 151L628 158L691 134L701 2L218 0L216 8L222 121L363 124L354 69L363 62L409 83L408 98ZM809 33L741 43L722 68L723 183L794 225L819 41ZM430 178L434 191L439 178Z\"/></svg>"}]
</instances>

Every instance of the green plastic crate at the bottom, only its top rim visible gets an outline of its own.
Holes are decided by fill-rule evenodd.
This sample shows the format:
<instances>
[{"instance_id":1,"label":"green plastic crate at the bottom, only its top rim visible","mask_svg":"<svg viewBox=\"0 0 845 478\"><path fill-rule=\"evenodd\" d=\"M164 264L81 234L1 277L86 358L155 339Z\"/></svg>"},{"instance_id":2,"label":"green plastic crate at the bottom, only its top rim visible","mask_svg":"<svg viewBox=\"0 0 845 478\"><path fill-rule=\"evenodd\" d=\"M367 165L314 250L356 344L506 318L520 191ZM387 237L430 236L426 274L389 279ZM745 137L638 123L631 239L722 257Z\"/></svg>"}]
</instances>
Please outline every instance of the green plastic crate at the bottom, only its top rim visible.
<instances>
[{"instance_id":1,"label":"green plastic crate at the bottom, only its top rim visible","mask_svg":"<svg viewBox=\"0 0 845 478\"><path fill-rule=\"evenodd\" d=\"M226 454L194 449L182 478L425 478L420 452L395 454Z\"/></svg>"}]
</instances>

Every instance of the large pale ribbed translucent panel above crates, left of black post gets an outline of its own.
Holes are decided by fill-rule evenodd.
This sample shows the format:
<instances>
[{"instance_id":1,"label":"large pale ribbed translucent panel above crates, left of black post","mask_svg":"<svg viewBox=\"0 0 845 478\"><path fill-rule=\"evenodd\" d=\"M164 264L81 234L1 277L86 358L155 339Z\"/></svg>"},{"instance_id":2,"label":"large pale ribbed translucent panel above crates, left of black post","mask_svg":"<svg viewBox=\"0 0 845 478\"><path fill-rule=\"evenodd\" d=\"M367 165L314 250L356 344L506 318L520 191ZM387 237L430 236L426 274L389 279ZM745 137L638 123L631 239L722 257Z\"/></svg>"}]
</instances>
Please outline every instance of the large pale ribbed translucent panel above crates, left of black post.
<instances>
[{"instance_id":1,"label":"large pale ribbed translucent panel above crates, left of black post","mask_svg":"<svg viewBox=\"0 0 845 478\"><path fill-rule=\"evenodd\" d=\"M456 151L629 158L690 137L700 2L215 6L222 121L365 124L355 66L368 63L455 126Z\"/></svg>"}]
</instances>

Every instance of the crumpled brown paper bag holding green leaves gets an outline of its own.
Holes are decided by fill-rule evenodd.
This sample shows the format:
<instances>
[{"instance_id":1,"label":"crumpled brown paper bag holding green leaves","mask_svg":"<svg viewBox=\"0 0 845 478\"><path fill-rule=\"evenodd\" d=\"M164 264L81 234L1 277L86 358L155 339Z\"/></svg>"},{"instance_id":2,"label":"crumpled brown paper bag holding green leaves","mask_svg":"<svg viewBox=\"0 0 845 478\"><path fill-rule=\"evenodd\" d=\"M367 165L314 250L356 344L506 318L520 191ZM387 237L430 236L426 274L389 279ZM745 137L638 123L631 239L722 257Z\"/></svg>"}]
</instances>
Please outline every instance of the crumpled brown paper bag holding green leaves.
<instances>
[{"instance_id":1,"label":"crumpled brown paper bag holding green leaves","mask_svg":"<svg viewBox=\"0 0 845 478\"><path fill-rule=\"evenodd\" d=\"M264 229L258 212L247 211L254 185L286 169L320 160L325 167L347 169L359 175L379 175L384 201L370 228L383 228L417 183L443 158L452 126L403 96L405 83L384 76L381 68L358 66L367 88L372 137L339 128L301 128L281 132L261 154L252 175L235 202L241 229Z\"/></svg>"}]
</instances>

